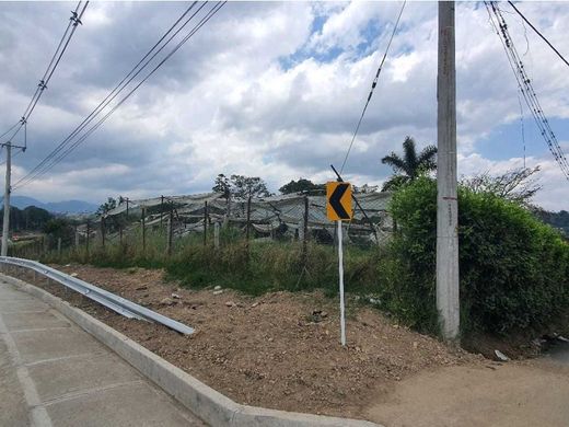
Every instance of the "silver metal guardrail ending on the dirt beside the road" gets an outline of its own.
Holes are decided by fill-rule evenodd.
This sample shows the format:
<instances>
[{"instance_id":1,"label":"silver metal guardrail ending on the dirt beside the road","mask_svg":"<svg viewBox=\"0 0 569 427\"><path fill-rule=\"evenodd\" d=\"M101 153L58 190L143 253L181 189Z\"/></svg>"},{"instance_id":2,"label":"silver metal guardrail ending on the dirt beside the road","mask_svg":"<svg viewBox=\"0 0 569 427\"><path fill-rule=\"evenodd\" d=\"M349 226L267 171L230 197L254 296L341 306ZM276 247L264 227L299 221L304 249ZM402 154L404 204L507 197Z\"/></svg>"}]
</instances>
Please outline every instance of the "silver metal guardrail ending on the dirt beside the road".
<instances>
[{"instance_id":1,"label":"silver metal guardrail ending on the dirt beside the road","mask_svg":"<svg viewBox=\"0 0 569 427\"><path fill-rule=\"evenodd\" d=\"M0 256L0 264L14 265L22 268L28 268L42 276L55 280L67 288L81 293L82 296L98 302L100 304L121 314L128 319L146 320L149 322L160 323L171 330L177 331L182 334L189 335L194 333L194 328L177 322L173 319L166 318L155 311L149 310L142 305L136 304L126 298L119 297L107 290L97 288L94 285L88 284L77 277L69 276L47 265L40 264L36 261L14 258L11 256Z\"/></svg>"}]
</instances>

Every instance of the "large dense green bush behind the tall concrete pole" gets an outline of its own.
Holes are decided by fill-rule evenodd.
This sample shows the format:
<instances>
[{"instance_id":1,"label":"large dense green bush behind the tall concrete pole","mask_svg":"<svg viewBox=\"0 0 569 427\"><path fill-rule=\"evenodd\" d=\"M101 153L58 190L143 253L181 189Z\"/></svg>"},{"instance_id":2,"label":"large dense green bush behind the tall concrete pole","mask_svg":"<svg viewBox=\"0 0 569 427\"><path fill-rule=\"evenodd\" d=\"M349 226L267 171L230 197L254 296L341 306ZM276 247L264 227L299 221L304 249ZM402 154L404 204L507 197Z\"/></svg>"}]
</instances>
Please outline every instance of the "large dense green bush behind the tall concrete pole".
<instances>
[{"instance_id":1,"label":"large dense green bush behind the tall concrete pole","mask_svg":"<svg viewBox=\"0 0 569 427\"><path fill-rule=\"evenodd\" d=\"M419 178L395 194L398 231L384 264L386 308L434 332L437 185ZM569 245L519 205L458 188L463 334L544 331L569 312Z\"/></svg>"}]
</instances>

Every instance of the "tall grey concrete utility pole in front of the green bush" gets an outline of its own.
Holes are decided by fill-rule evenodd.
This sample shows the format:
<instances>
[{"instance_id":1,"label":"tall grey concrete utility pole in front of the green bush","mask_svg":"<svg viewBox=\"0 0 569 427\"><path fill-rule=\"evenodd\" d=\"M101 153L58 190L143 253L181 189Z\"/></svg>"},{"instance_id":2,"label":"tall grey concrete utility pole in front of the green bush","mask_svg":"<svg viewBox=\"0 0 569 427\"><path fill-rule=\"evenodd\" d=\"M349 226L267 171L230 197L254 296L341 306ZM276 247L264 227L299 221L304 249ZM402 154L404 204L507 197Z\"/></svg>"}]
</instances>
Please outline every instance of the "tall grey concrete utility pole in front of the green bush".
<instances>
[{"instance_id":1,"label":"tall grey concrete utility pole in front of the green bush","mask_svg":"<svg viewBox=\"0 0 569 427\"><path fill-rule=\"evenodd\" d=\"M460 333L458 204L456 199L456 71L454 1L439 2L438 161L437 161L437 310L441 334Z\"/></svg>"}]
</instances>

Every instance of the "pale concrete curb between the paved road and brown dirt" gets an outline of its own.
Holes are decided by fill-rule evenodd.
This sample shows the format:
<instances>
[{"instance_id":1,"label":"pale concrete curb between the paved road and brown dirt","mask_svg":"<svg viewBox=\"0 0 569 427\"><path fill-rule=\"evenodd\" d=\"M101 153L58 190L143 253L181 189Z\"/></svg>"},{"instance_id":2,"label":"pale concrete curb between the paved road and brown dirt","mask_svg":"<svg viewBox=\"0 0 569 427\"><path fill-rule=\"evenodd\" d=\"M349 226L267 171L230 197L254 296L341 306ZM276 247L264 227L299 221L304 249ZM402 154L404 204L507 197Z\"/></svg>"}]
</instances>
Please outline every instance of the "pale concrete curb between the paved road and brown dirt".
<instances>
[{"instance_id":1,"label":"pale concrete curb between the paved road and brown dirt","mask_svg":"<svg viewBox=\"0 0 569 427\"><path fill-rule=\"evenodd\" d=\"M67 301L11 276L0 278L58 310L210 426L381 427L365 420L241 405Z\"/></svg>"}]
</instances>

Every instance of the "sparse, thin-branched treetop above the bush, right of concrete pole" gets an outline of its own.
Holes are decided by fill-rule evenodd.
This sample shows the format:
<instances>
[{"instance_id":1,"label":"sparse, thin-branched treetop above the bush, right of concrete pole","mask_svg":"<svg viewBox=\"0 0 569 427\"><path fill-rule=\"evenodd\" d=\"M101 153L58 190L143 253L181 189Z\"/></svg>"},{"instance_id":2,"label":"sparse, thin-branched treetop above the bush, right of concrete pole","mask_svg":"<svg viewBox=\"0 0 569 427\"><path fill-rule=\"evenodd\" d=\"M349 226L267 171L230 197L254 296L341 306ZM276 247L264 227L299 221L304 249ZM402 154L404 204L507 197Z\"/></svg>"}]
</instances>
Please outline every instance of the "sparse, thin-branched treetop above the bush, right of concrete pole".
<instances>
[{"instance_id":1,"label":"sparse, thin-branched treetop above the bush, right of concrete pole","mask_svg":"<svg viewBox=\"0 0 569 427\"><path fill-rule=\"evenodd\" d=\"M513 169L502 175L495 176L485 172L472 178L461 180L461 185L475 193L491 193L498 197L529 206L535 193L542 189L534 176L537 172L539 172L539 166Z\"/></svg>"}]
</instances>

